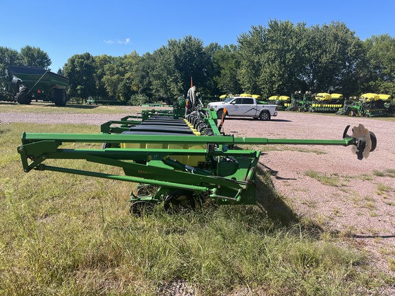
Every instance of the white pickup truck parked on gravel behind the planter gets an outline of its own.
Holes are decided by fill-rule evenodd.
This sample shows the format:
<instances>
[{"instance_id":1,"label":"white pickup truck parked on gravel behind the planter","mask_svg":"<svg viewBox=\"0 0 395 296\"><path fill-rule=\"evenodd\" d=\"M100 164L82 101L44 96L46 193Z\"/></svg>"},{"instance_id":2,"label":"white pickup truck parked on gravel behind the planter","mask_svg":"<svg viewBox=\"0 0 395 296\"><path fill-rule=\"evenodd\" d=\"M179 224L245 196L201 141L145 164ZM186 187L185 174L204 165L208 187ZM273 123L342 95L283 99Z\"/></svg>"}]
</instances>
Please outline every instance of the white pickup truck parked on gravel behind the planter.
<instances>
[{"instance_id":1,"label":"white pickup truck parked on gravel behind the planter","mask_svg":"<svg viewBox=\"0 0 395 296\"><path fill-rule=\"evenodd\" d=\"M217 112L217 117L222 118L226 108L227 116L252 117L268 121L272 116L277 116L277 105L260 103L254 97L228 97L225 101L211 102L207 105Z\"/></svg>"}]
</instances>

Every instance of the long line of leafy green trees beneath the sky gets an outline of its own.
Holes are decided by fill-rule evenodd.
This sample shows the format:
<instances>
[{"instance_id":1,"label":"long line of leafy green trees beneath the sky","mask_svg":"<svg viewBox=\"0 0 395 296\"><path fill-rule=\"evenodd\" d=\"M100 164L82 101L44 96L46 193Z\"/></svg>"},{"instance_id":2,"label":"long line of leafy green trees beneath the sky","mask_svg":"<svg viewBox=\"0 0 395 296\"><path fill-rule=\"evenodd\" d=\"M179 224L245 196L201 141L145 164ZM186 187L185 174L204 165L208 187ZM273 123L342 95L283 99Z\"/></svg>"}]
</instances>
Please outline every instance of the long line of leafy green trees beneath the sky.
<instances>
[{"instance_id":1,"label":"long line of leafy green trees beneath the sky","mask_svg":"<svg viewBox=\"0 0 395 296\"><path fill-rule=\"evenodd\" d=\"M18 62L49 69L44 51L0 47L0 66ZM0 68L1 71L1 68ZM365 41L344 23L307 27L271 20L252 26L236 45L204 46L193 36L171 39L153 53L139 56L75 54L58 74L69 77L69 97L112 99L138 104L172 103L191 85L206 97L253 93L263 99L295 91L395 93L395 38L388 34Z\"/></svg>"}]
</instances>

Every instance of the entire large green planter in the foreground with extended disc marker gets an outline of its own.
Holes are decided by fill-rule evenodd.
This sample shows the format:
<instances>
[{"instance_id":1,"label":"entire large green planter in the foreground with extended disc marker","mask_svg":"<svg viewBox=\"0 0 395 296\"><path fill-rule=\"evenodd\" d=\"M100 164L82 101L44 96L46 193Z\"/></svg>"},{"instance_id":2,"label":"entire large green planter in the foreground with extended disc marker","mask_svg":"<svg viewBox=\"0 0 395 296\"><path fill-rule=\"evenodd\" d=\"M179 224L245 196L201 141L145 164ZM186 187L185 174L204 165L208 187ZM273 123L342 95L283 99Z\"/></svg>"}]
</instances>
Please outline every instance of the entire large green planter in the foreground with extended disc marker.
<instances>
[{"instance_id":1,"label":"entire large green planter in the foreground with extended disc marker","mask_svg":"<svg viewBox=\"0 0 395 296\"><path fill-rule=\"evenodd\" d=\"M206 201L256 204L261 151L241 149L243 145L352 146L359 160L376 148L376 137L362 125L354 127L351 136L346 127L342 140L247 138L225 134L225 116L217 118L215 111L203 108L193 86L173 110L145 110L109 121L97 134L23 133L17 151L26 173L56 171L139 184L130 195L130 212L139 214L156 204L169 211ZM70 149L68 143L97 143L97 147ZM64 159L93 162L97 171L52 165ZM51 165L44 164L47 160ZM123 173L104 173L108 167Z\"/></svg>"}]
</instances>

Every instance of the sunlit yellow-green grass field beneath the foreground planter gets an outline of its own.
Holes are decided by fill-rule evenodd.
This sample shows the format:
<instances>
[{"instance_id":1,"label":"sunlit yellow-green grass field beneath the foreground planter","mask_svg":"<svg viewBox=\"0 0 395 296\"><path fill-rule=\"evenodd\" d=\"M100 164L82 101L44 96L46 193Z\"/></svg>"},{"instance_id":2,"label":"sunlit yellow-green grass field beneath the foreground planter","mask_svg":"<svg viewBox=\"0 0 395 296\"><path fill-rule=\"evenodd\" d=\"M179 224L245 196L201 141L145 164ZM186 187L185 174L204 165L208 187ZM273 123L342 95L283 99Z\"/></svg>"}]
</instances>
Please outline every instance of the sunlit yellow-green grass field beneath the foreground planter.
<instances>
[{"instance_id":1,"label":"sunlit yellow-green grass field beneath the foreground planter","mask_svg":"<svg viewBox=\"0 0 395 296\"><path fill-rule=\"evenodd\" d=\"M64 130L98 129L0 123L0 295L173 295L180 283L190 295L366 295L392 280L344 247L347 238L285 212L264 175L265 209L167 214L158 206L135 217L135 184L23 173L21 133Z\"/></svg>"}]
</instances>

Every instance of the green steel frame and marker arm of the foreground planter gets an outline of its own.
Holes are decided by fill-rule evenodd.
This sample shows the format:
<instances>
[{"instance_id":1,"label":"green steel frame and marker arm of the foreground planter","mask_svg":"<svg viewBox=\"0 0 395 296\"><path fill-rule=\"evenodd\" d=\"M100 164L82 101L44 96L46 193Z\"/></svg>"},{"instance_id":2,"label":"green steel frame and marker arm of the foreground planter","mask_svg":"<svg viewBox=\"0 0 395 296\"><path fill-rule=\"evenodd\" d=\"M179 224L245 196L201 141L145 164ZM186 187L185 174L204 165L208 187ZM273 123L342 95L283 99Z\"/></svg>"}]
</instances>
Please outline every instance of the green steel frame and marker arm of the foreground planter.
<instances>
[{"instance_id":1,"label":"green steel frame and marker arm of the foreground planter","mask_svg":"<svg viewBox=\"0 0 395 296\"><path fill-rule=\"evenodd\" d=\"M202 116L204 114L204 116ZM109 121L101 125L101 134L34 134L23 133L21 154L23 170L56 171L89 177L101 177L154 186L156 193L134 195L132 205L156 204L166 201L171 194L193 195L200 199L213 199L218 204L256 203L256 166L260 151L232 149L235 145L359 145L363 139L352 138L344 133L342 140L310 139L270 139L239 138L225 136L217 127L215 112L200 110L199 120L204 121L208 130L201 136L122 134L131 126L140 125L152 116L172 116L181 118L180 112L150 110L143 116L127 116L120 121ZM195 119L193 119L195 121ZM209 132L207 132L209 131ZM64 143L106 143L102 149L62 148ZM121 148L121 143L123 148ZM147 148L148 144L163 144L167 148ZM362 144L361 144L362 143ZM145 148L129 148L130 144L143 144ZM171 148L190 145L190 149ZM137 145L138 146L138 145ZM137 147L136 146L136 147ZM196 149L195 147L200 147ZM176 158L200 158L194 167ZM44 164L53 160L86 160L97 164L123 169L124 175L114 175L98 171L83 171ZM182 192L182 193L180 193ZM132 208L131 208L132 209Z\"/></svg>"}]
</instances>

